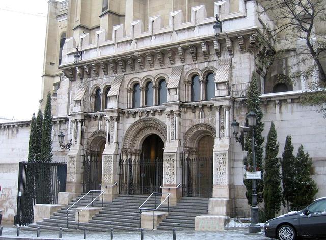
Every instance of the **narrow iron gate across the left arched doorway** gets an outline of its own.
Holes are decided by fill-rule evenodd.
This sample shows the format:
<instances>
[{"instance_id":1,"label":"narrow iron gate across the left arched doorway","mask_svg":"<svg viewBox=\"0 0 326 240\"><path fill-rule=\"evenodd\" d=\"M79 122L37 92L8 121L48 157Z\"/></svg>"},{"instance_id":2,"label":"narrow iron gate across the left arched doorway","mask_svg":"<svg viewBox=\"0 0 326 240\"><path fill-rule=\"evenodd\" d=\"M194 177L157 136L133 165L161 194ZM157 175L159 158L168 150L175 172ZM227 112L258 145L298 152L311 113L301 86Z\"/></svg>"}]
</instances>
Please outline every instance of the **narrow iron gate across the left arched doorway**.
<instances>
[{"instance_id":1,"label":"narrow iron gate across the left arched doorway","mask_svg":"<svg viewBox=\"0 0 326 240\"><path fill-rule=\"evenodd\" d=\"M102 183L102 159L100 157L88 159L85 156L83 168L83 192L101 190L99 184Z\"/></svg>"}]
</instances>

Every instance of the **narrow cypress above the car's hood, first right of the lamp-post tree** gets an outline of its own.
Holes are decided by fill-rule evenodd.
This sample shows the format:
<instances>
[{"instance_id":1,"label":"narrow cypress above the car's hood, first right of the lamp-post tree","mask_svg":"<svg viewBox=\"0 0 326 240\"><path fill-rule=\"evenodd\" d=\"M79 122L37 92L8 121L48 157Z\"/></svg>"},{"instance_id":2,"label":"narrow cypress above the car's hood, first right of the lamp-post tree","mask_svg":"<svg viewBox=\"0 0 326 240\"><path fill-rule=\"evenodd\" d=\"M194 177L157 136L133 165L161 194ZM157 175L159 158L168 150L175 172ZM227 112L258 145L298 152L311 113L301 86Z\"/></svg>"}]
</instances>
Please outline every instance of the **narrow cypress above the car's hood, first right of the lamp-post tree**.
<instances>
[{"instance_id":1,"label":"narrow cypress above the car's hood, first right of the lamp-post tree","mask_svg":"<svg viewBox=\"0 0 326 240\"><path fill-rule=\"evenodd\" d=\"M266 219L275 217L281 209L282 190L280 176L280 161L277 157L279 144L275 125L271 122L267 135L265 168L264 168L264 204Z\"/></svg>"}]
</instances>

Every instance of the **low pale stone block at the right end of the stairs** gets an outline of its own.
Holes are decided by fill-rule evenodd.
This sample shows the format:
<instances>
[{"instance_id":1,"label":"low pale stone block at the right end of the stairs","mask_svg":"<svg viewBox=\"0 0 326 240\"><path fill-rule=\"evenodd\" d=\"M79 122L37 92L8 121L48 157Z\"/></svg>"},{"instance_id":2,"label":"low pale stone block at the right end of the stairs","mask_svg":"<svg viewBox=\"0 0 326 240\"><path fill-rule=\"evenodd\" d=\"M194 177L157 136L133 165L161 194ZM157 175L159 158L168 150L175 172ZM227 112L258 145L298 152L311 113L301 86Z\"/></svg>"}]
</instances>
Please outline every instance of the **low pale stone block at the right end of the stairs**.
<instances>
[{"instance_id":1,"label":"low pale stone block at the right end of the stairs","mask_svg":"<svg viewBox=\"0 0 326 240\"><path fill-rule=\"evenodd\" d=\"M200 215L195 217L195 231L224 231L230 217L218 215Z\"/></svg>"}]
</instances>

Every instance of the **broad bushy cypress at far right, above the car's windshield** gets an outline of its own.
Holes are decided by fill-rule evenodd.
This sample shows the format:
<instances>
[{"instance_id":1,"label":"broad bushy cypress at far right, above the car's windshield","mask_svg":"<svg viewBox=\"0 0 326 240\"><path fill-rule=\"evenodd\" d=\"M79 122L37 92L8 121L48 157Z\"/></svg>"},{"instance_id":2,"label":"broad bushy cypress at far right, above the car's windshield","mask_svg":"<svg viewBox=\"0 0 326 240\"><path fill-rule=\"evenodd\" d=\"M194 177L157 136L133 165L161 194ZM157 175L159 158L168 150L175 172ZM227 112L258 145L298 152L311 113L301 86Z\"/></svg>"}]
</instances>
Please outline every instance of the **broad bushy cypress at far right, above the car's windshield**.
<instances>
[{"instance_id":1,"label":"broad bushy cypress at far right, above the car's windshield","mask_svg":"<svg viewBox=\"0 0 326 240\"><path fill-rule=\"evenodd\" d=\"M300 145L298 153L294 162L295 176L294 176L294 189L293 200L291 209L297 210L310 204L314 200L318 188L314 180L310 177L312 169L312 159L309 157L308 152L304 152L304 147Z\"/></svg>"}]
</instances>

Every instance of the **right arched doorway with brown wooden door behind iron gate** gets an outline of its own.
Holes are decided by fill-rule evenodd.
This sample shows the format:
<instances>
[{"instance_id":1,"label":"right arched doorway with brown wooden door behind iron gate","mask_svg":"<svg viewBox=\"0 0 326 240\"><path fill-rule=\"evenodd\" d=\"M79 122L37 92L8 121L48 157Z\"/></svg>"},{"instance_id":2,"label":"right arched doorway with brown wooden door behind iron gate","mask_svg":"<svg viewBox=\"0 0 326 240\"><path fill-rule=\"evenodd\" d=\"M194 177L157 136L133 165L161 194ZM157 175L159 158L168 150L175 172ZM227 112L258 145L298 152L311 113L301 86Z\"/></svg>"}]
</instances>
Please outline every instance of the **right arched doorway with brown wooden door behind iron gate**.
<instances>
[{"instance_id":1,"label":"right arched doorway with brown wooden door behind iron gate","mask_svg":"<svg viewBox=\"0 0 326 240\"><path fill-rule=\"evenodd\" d=\"M195 125L186 132L182 157L183 196L212 196L213 148L215 129L208 124Z\"/></svg>"}]
</instances>

